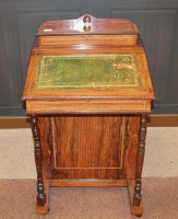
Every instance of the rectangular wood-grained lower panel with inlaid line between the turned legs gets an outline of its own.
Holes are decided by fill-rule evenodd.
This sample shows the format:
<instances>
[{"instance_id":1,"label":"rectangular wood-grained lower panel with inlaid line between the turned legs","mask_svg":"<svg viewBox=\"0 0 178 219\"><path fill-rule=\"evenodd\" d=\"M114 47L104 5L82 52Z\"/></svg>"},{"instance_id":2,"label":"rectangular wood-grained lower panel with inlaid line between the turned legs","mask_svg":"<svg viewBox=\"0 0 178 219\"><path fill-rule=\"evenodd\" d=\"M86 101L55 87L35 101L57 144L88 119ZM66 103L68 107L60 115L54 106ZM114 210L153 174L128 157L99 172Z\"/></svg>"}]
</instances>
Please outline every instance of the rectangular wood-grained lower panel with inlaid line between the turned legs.
<instances>
[{"instance_id":1,"label":"rectangular wood-grained lower panel with inlaid line between the turned legs","mask_svg":"<svg viewBox=\"0 0 178 219\"><path fill-rule=\"evenodd\" d=\"M39 117L51 178L133 178L139 117L74 115Z\"/></svg>"}]
</instances>

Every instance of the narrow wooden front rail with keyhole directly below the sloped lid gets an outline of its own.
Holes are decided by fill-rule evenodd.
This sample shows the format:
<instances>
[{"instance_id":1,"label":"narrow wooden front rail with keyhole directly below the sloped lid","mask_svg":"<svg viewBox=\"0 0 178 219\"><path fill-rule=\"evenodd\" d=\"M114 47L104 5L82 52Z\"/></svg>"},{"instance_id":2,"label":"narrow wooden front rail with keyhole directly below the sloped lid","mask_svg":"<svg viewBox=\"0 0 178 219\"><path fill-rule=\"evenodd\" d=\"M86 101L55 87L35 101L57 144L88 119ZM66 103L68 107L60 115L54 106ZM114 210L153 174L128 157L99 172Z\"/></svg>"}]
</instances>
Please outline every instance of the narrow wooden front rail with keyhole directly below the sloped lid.
<instances>
[{"instance_id":1,"label":"narrow wooden front rail with keyhole directly below the sloped lid","mask_svg":"<svg viewBox=\"0 0 178 219\"><path fill-rule=\"evenodd\" d=\"M76 100L76 101L27 101L27 113L56 114L106 114L106 113L149 113L147 100Z\"/></svg>"}]
</instances>

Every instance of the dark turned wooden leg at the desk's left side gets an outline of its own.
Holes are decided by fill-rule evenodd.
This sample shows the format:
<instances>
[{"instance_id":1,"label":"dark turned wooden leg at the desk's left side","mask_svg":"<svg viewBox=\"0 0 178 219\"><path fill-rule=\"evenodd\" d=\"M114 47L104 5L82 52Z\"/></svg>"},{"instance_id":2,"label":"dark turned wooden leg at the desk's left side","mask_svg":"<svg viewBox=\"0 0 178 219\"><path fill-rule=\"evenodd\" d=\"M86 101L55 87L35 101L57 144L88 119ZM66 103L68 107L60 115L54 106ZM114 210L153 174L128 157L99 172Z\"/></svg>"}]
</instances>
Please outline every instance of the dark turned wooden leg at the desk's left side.
<instances>
[{"instance_id":1,"label":"dark turned wooden leg at the desk's left side","mask_svg":"<svg viewBox=\"0 0 178 219\"><path fill-rule=\"evenodd\" d=\"M44 193L44 181L43 181L43 153L41 153L41 145L39 138L39 128L37 125L37 116L31 116L32 122L32 132L34 137L34 146L35 146L35 162L37 170L37 205L45 206L46 204L46 195Z\"/></svg>"}]
</instances>

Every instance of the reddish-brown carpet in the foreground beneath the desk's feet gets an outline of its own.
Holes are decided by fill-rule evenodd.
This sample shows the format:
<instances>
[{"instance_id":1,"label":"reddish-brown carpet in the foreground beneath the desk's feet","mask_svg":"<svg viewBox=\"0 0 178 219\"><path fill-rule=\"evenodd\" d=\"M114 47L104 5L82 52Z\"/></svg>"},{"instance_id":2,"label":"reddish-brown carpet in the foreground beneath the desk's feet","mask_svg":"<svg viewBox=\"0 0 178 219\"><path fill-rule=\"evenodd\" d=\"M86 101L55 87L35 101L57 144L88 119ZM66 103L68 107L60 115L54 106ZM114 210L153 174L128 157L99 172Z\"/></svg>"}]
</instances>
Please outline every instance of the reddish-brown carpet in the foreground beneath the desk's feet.
<instances>
[{"instance_id":1,"label":"reddish-brown carpet in the foreground beneath the desk's feet","mask_svg":"<svg viewBox=\"0 0 178 219\"><path fill-rule=\"evenodd\" d=\"M132 219L126 188L51 188L50 212L35 215L35 180L0 181L1 219ZM143 219L178 219L178 177L143 180Z\"/></svg>"}]
</instances>

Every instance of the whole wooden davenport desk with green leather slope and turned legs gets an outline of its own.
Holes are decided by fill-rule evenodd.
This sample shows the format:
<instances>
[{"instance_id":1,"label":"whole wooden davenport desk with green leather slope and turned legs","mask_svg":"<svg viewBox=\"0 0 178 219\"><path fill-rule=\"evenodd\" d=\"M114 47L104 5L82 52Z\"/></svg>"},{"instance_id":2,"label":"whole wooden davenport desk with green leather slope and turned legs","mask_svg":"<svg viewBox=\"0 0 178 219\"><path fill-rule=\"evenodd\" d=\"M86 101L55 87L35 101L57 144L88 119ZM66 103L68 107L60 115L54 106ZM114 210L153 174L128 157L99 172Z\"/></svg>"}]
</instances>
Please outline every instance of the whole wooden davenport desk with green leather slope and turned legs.
<instances>
[{"instance_id":1,"label":"whole wooden davenport desk with green leather slope and turned legs","mask_svg":"<svg viewBox=\"0 0 178 219\"><path fill-rule=\"evenodd\" d=\"M23 100L32 118L38 214L50 186L127 186L142 215L146 116L154 99L145 50L129 20L45 22Z\"/></svg>"}]
</instances>

